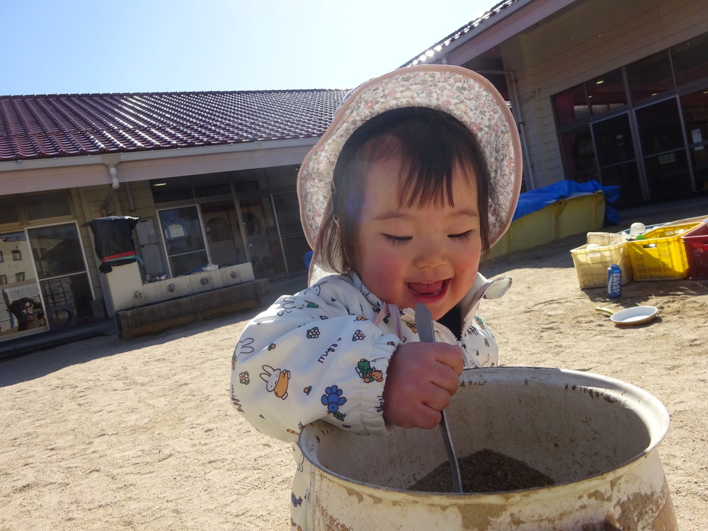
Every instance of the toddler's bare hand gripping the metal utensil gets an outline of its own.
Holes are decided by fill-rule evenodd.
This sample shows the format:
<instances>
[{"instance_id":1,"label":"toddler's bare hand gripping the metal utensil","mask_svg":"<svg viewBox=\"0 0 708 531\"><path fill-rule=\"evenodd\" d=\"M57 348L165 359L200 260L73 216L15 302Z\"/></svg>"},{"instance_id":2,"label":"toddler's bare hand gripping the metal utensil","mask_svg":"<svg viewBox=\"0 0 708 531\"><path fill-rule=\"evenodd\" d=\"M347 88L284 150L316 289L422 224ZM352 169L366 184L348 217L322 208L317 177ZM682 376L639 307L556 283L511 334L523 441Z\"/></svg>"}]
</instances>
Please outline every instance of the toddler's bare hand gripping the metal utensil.
<instances>
[{"instance_id":1,"label":"toddler's bare hand gripping the metal utensil","mask_svg":"<svg viewBox=\"0 0 708 531\"><path fill-rule=\"evenodd\" d=\"M435 428L462 374L462 349L447 343L396 348L384 384L384 420L402 428Z\"/></svg>"}]
</instances>

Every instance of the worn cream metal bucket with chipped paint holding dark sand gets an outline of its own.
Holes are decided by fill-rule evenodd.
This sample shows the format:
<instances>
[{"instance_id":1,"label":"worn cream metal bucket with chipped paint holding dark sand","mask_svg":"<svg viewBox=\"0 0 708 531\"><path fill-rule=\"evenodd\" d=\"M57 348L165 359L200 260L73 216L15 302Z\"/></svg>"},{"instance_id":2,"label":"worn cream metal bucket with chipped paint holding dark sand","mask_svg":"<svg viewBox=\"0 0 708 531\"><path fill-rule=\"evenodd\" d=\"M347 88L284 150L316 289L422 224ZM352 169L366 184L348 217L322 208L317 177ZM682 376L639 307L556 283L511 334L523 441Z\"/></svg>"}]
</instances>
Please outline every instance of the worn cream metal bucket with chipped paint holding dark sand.
<instances>
[{"instance_id":1,"label":"worn cream metal bucket with chipped paint holding dark sand","mask_svg":"<svg viewBox=\"0 0 708 531\"><path fill-rule=\"evenodd\" d=\"M308 531L678 529L656 450L668 411L638 387L549 368L465 370L447 415L458 457L496 450L556 483L410 491L447 459L439 430L362 437L318 421L299 438L312 470Z\"/></svg>"}]
</instances>

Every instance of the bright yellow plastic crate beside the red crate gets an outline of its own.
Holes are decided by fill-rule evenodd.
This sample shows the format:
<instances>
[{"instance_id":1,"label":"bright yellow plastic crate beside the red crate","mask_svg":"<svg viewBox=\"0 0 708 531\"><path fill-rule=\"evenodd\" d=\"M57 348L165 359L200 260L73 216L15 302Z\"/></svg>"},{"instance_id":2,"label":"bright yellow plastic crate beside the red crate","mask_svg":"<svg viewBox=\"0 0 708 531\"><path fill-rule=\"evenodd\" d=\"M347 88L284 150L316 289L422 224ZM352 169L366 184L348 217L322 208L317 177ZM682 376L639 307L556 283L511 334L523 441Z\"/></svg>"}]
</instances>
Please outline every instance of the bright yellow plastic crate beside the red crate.
<instances>
[{"instance_id":1,"label":"bright yellow plastic crate beside the red crate","mask_svg":"<svg viewBox=\"0 0 708 531\"><path fill-rule=\"evenodd\" d=\"M644 233L644 239L627 241L634 280L686 278L688 258L681 236L697 223L665 225Z\"/></svg>"}]
</instances>

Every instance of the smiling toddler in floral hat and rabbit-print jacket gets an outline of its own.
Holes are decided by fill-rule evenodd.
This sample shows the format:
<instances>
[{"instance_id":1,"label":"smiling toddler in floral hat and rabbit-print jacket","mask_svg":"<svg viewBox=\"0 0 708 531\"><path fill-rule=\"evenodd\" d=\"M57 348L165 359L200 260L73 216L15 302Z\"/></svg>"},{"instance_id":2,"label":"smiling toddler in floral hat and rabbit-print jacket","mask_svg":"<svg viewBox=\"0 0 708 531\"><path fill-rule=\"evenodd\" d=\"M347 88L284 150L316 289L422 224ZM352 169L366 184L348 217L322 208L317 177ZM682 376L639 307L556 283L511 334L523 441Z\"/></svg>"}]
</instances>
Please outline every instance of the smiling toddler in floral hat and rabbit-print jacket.
<instances>
[{"instance_id":1,"label":"smiling toddler in floral hat and rabbit-print jacket","mask_svg":"<svg viewBox=\"0 0 708 531\"><path fill-rule=\"evenodd\" d=\"M477 269L508 228L520 183L515 123L478 74L408 67L355 89L299 171L309 287L244 329L236 409L294 442L319 419L362 435L438 426L463 367L497 363L476 309L510 279ZM419 302L437 321L435 343L418 338ZM292 525L307 530L309 463L294 448Z\"/></svg>"}]
</instances>

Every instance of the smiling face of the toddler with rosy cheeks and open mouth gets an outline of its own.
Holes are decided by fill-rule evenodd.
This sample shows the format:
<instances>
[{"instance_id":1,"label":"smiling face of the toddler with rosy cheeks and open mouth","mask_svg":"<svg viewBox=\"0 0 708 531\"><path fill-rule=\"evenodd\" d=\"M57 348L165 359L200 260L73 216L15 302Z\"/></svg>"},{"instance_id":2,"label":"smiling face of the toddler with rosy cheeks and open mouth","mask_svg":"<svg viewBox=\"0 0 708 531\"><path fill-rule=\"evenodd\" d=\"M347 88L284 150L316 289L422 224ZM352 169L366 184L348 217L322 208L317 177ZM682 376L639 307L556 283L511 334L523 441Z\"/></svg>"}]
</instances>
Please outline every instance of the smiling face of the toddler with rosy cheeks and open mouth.
<instances>
[{"instance_id":1,"label":"smiling face of the toddler with rosy cheeks and open mouth","mask_svg":"<svg viewBox=\"0 0 708 531\"><path fill-rule=\"evenodd\" d=\"M453 175L455 205L399 207L400 161L372 165L358 229L358 271L384 302L424 302L440 319L472 288L481 254L475 176Z\"/></svg>"}]
</instances>

